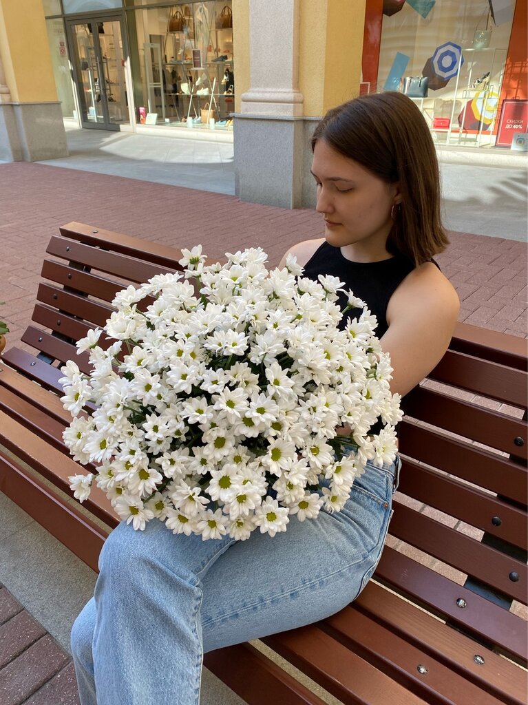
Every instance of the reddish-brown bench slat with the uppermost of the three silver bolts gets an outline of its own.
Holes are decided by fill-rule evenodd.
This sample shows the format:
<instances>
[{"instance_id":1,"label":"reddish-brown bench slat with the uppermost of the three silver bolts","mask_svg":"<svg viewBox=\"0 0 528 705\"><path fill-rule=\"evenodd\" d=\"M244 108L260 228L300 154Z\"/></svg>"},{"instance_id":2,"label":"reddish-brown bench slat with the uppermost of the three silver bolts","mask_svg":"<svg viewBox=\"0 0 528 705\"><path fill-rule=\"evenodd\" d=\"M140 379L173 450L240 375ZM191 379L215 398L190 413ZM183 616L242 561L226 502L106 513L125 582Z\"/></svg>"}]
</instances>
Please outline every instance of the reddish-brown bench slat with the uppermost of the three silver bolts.
<instances>
[{"instance_id":1,"label":"reddish-brown bench slat with the uppermost of the three silver bolts","mask_svg":"<svg viewBox=\"0 0 528 705\"><path fill-rule=\"evenodd\" d=\"M383 548L375 577L412 601L423 604L440 618L491 641L506 654L528 659L528 625L503 607L462 587L390 546ZM466 606L457 605L459 598Z\"/></svg>"}]
</instances>

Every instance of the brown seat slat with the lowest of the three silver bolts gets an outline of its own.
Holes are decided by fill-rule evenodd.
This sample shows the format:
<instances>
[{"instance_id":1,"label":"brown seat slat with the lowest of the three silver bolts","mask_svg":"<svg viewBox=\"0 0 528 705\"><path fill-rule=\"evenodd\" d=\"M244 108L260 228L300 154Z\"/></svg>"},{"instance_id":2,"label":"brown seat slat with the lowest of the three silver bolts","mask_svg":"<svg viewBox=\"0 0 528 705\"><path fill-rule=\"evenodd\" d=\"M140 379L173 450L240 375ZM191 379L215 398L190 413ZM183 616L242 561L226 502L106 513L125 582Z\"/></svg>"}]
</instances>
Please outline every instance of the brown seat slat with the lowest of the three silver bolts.
<instances>
[{"instance_id":1,"label":"brown seat slat with the lowest of the three silver bolts","mask_svg":"<svg viewBox=\"0 0 528 705\"><path fill-rule=\"evenodd\" d=\"M348 649L360 654L431 705L498 705L499 700L474 682L424 653L423 646L410 644L391 630L352 607L324 620L322 628ZM474 655L474 649L473 654ZM460 655L463 658L463 655ZM419 673L424 666L426 673ZM515 666L512 666L515 668ZM510 701L513 705L515 701ZM515 702L515 705L522 703Z\"/></svg>"}]
</instances>

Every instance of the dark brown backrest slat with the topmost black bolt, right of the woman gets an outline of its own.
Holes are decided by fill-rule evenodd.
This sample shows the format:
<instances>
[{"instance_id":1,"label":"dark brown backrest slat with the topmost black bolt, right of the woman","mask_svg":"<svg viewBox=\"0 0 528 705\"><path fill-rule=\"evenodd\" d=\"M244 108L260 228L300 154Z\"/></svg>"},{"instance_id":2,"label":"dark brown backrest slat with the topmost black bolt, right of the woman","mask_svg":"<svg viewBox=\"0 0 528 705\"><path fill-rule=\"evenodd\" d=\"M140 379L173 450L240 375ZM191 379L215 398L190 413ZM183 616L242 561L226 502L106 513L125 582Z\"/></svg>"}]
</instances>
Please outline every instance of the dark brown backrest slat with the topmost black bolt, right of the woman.
<instances>
[{"instance_id":1,"label":"dark brown backrest slat with the topmost black bolt, right of the woman","mask_svg":"<svg viewBox=\"0 0 528 705\"><path fill-rule=\"evenodd\" d=\"M454 434L502 450L523 460L528 443L516 446L515 438L527 439L526 422L512 419L491 409L477 408L441 392L420 387L405 400L407 415Z\"/></svg>"}]
</instances>

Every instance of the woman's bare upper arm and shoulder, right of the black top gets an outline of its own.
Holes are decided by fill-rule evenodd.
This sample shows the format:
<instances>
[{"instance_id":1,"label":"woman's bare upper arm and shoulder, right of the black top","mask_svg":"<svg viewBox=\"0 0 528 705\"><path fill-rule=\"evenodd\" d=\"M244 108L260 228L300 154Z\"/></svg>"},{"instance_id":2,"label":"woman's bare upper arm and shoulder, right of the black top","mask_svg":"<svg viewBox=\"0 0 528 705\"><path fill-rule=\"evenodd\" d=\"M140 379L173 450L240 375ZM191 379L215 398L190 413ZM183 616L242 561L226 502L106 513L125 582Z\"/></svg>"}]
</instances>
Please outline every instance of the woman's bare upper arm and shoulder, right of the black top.
<instances>
[{"instance_id":1,"label":"woman's bare upper arm and shoulder, right of the black top","mask_svg":"<svg viewBox=\"0 0 528 705\"><path fill-rule=\"evenodd\" d=\"M393 393L407 394L440 362L459 309L453 285L431 262L405 277L388 303L388 330L381 338L391 355Z\"/></svg>"}]
</instances>

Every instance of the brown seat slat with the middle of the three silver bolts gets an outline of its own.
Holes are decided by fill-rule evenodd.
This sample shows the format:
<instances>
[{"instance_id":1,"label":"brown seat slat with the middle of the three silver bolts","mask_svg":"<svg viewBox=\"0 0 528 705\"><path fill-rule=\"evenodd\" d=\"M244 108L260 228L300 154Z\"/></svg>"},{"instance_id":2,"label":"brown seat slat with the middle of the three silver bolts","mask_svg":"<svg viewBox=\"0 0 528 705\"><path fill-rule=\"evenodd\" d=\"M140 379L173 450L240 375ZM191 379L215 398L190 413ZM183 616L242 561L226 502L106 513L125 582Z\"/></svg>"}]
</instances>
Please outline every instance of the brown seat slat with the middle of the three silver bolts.
<instances>
[{"instance_id":1,"label":"brown seat slat with the middle of the three silver bolts","mask_svg":"<svg viewBox=\"0 0 528 705\"><path fill-rule=\"evenodd\" d=\"M526 671L493 651L481 648L473 639L381 585L369 582L351 607L372 616L406 642L423 649L495 697L508 697L511 692L515 695L514 702L524 703L528 685ZM474 655L477 653L484 656L484 663L476 663Z\"/></svg>"}]
</instances>

